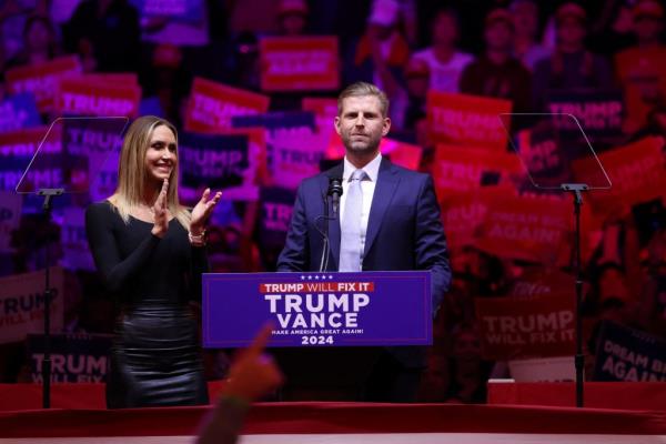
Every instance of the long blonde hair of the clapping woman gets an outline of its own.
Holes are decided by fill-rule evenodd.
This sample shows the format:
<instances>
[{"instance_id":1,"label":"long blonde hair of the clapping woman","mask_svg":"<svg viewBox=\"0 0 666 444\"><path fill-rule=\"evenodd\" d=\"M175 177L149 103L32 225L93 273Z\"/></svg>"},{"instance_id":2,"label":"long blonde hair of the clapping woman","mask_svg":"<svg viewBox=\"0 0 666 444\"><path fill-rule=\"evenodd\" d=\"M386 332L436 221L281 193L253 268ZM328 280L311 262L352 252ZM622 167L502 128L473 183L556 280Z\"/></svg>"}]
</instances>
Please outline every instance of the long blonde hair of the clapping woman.
<instances>
[{"instance_id":1,"label":"long blonde hair of the clapping woman","mask_svg":"<svg viewBox=\"0 0 666 444\"><path fill-rule=\"evenodd\" d=\"M173 132L176 143L178 158L178 131L167 120L143 115L130 125L120 153L118 164L118 188L110 200L118 209L118 213L125 223L130 221L132 210L139 208L145 195L145 186L149 184L145 168L145 152L150 147L150 140L155 128L164 125ZM190 212L180 204L178 200L178 164L169 178L169 190L167 191L167 205L171 214L185 228L190 229ZM157 190L159 191L159 189Z\"/></svg>"}]
</instances>

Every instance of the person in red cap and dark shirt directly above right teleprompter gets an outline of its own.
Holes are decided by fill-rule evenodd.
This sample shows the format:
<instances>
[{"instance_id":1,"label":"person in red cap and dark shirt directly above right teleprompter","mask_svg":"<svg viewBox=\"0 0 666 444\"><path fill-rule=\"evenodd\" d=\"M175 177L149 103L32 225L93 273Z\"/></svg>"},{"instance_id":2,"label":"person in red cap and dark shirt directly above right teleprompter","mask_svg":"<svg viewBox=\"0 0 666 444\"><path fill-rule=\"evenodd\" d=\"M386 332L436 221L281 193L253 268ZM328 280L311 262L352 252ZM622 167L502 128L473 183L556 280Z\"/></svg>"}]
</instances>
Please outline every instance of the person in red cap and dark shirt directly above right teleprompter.
<instances>
[{"instance_id":1,"label":"person in red cap and dark shirt directly above right teleprompter","mask_svg":"<svg viewBox=\"0 0 666 444\"><path fill-rule=\"evenodd\" d=\"M585 47L587 13L577 3L564 3L556 12L557 46L548 59L536 63L533 75L533 100L544 110L554 91L576 89L608 90L613 87L606 60Z\"/></svg>"}]
</instances>

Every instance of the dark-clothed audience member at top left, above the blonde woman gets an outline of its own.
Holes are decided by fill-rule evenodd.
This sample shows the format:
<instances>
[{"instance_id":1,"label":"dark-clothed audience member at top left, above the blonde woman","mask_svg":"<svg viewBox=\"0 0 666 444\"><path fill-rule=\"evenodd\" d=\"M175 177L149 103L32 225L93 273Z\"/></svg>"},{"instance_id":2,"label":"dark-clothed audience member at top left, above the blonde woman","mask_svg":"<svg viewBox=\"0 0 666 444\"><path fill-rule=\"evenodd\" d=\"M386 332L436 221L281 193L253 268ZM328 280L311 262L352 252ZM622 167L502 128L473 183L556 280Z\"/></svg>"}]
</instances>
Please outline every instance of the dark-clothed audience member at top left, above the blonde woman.
<instances>
[{"instance_id":1,"label":"dark-clothed audience member at top left, above the blonde woman","mask_svg":"<svg viewBox=\"0 0 666 444\"><path fill-rule=\"evenodd\" d=\"M63 27L64 46L99 72L138 72L139 14L128 0L85 0Z\"/></svg>"}]
</instances>

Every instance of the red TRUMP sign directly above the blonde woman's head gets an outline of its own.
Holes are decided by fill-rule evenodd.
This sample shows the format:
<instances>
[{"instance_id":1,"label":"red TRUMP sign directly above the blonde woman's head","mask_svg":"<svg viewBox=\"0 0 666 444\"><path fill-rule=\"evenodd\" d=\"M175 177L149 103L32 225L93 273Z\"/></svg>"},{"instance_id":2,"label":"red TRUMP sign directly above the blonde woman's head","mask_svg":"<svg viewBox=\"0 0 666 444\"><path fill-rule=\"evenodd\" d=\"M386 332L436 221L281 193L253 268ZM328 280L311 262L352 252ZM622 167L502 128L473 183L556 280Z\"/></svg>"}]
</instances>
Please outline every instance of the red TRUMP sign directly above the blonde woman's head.
<instances>
[{"instance_id":1,"label":"red TRUMP sign directly above the blonde woman's head","mask_svg":"<svg viewBox=\"0 0 666 444\"><path fill-rule=\"evenodd\" d=\"M99 74L98 74L99 75ZM81 75L61 79L56 108L62 114L134 118L139 114L141 88Z\"/></svg>"}]
</instances>

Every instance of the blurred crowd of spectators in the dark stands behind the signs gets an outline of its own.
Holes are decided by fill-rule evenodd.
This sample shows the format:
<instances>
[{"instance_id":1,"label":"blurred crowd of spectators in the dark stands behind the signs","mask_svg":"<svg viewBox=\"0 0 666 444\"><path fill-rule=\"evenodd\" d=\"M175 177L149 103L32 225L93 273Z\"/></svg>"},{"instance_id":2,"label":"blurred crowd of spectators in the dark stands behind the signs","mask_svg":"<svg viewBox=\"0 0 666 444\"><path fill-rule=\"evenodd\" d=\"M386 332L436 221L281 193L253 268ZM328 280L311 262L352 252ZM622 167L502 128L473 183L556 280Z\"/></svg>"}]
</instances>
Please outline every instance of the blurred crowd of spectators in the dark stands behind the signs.
<instances>
[{"instance_id":1,"label":"blurred crowd of spectators in the dark stands behind the signs","mask_svg":"<svg viewBox=\"0 0 666 444\"><path fill-rule=\"evenodd\" d=\"M78 6L64 13L60 3ZM433 90L506 99L514 112L547 111L554 91L617 90L627 98L622 133L595 148L666 138L664 6L657 0L208 0L201 7L199 20L179 22L142 18L125 0L1 1L0 99L8 94L8 70L75 54L85 72L137 73L143 97L158 98L163 117L181 128L193 78L261 92L260 39L335 34L341 84L367 81L386 92L392 134L423 148L424 172L435 151L426 112ZM636 90L639 100L629 100ZM299 110L302 95L272 93L270 110ZM42 115L43 123L51 118ZM445 211L446 196L438 198ZM225 211L230 223L209 229L212 271L275 271L275 254L260 241L256 206ZM584 264L588 355L601 320L666 337L665 221L659 201L605 215ZM44 245L58 251L60 239L58 225L24 214L2 274L42 269ZM474 297L507 295L535 270L572 273L572 263L547 270L474 245L450 254L452 287L435 320L420 400L482 403L488 377L505 371L482 356ZM61 259L56 254L52 265ZM112 331L115 307L99 282L94 273L67 271L65 331ZM225 351L206 351L205 377L225 377L229 359ZM28 365L24 344L0 345L0 382L27 381Z\"/></svg>"}]
</instances>

